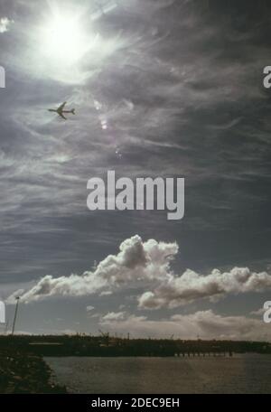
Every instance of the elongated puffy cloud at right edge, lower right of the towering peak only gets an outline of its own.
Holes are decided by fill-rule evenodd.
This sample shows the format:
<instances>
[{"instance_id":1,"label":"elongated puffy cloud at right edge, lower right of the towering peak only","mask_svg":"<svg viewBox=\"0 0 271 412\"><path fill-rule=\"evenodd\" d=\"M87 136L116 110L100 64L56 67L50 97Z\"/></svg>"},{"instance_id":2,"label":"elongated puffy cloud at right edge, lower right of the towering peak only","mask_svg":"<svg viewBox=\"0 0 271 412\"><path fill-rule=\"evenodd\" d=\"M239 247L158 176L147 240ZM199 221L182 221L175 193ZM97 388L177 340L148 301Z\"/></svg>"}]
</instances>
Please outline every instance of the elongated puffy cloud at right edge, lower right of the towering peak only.
<instances>
[{"instance_id":1,"label":"elongated puffy cloud at right edge, lower right of the towering peak only","mask_svg":"<svg viewBox=\"0 0 271 412\"><path fill-rule=\"evenodd\" d=\"M248 267L234 267L229 272L212 270L210 275L199 275L186 270L182 276L172 274L154 292L145 292L139 306L145 309L177 307L202 298L217 300L228 294L262 292L271 288L271 276L266 272L251 272Z\"/></svg>"}]
</instances>

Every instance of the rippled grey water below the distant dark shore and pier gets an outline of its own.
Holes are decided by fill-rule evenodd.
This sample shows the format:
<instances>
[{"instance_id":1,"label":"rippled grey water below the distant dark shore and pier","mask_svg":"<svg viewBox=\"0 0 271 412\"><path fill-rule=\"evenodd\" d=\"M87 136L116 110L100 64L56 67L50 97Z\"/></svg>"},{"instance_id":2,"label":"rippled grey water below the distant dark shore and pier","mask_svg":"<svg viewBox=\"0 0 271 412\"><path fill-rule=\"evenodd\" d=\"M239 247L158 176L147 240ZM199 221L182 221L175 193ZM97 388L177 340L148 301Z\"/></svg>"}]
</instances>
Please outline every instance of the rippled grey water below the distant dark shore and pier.
<instances>
[{"instance_id":1,"label":"rippled grey water below the distant dark shore and pier","mask_svg":"<svg viewBox=\"0 0 271 412\"><path fill-rule=\"evenodd\" d=\"M271 355L45 360L71 393L271 393Z\"/></svg>"}]
</instances>

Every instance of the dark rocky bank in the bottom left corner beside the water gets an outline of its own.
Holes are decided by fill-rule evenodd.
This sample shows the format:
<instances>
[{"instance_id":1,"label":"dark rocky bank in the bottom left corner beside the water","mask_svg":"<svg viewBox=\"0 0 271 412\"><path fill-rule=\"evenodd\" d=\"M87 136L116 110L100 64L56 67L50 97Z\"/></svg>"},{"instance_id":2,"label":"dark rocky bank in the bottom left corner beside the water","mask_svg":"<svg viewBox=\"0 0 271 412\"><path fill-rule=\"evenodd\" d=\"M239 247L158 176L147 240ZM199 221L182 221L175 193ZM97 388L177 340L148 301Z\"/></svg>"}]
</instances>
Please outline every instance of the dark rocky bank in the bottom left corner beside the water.
<instances>
[{"instance_id":1,"label":"dark rocky bank in the bottom left corner beside the water","mask_svg":"<svg viewBox=\"0 0 271 412\"><path fill-rule=\"evenodd\" d=\"M25 351L0 351L1 394L67 393L55 385L52 371L41 356Z\"/></svg>"}]
</instances>

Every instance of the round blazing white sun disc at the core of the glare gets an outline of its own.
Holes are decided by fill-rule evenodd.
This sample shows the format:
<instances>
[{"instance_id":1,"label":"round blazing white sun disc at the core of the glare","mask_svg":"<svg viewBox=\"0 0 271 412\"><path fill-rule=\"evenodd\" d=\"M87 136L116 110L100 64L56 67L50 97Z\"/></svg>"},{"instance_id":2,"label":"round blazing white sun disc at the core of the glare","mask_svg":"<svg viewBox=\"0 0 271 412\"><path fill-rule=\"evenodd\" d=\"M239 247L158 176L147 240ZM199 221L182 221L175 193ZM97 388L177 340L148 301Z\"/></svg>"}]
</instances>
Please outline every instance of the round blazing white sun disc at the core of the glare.
<instances>
[{"instance_id":1,"label":"round blazing white sun disc at the core of the glare","mask_svg":"<svg viewBox=\"0 0 271 412\"><path fill-rule=\"evenodd\" d=\"M70 66L88 51L89 39L79 17L54 14L41 30L42 54L52 64Z\"/></svg>"}]
</instances>

